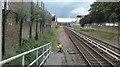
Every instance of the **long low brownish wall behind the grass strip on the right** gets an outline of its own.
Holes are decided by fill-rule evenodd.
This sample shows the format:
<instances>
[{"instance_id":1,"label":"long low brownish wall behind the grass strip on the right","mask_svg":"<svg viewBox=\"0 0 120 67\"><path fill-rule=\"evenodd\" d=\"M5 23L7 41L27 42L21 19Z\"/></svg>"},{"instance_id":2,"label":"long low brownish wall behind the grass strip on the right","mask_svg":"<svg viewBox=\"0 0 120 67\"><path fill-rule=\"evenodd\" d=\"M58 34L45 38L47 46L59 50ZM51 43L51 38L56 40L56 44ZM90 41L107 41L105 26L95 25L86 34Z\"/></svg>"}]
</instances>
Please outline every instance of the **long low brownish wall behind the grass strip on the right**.
<instances>
[{"instance_id":1,"label":"long low brownish wall behind the grass strip on the right","mask_svg":"<svg viewBox=\"0 0 120 67\"><path fill-rule=\"evenodd\" d=\"M85 26L84 28L105 31L105 32L118 33L118 27L115 27L115 26Z\"/></svg>"}]
</instances>

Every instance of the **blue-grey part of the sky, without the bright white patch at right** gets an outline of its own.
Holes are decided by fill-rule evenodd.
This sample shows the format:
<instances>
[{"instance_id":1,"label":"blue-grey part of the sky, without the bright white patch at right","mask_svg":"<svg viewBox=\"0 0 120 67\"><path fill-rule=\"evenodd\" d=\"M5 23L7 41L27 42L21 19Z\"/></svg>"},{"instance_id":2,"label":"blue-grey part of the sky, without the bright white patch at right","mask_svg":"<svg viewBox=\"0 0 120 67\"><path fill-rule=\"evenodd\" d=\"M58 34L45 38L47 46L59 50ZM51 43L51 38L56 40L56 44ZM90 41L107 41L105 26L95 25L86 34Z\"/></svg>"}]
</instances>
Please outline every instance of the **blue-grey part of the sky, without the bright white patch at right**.
<instances>
[{"instance_id":1,"label":"blue-grey part of the sky, without the bright white patch at right","mask_svg":"<svg viewBox=\"0 0 120 67\"><path fill-rule=\"evenodd\" d=\"M78 14L71 13L72 10L79 7L87 9L89 5L87 2L45 2L46 9L60 18L74 18Z\"/></svg>"}]
</instances>

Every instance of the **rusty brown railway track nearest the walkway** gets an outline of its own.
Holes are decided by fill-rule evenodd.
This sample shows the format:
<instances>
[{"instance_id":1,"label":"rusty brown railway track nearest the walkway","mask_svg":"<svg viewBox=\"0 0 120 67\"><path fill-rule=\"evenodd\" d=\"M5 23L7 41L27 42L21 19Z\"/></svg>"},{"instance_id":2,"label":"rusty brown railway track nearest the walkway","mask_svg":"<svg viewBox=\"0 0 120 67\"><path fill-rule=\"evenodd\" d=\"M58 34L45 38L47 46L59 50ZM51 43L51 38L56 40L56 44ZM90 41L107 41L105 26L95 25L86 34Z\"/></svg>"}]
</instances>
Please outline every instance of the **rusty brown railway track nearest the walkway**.
<instances>
[{"instance_id":1,"label":"rusty brown railway track nearest the walkway","mask_svg":"<svg viewBox=\"0 0 120 67\"><path fill-rule=\"evenodd\" d=\"M89 40L90 37L87 37L87 35L84 35L83 33L80 34L80 32L76 32L76 31L68 29L68 28L64 28L64 29L65 29L66 33L68 34L69 38L71 39L71 41L73 42L73 44L79 50L80 54L82 54L83 58L85 59L85 61L88 63L89 66L93 66L93 67L96 67L96 66L115 67L116 66L115 63L113 62L114 60L111 60L110 58L105 57L103 55L103 53L101 53L99 51L99 50L101 50L102 52L104 52L104 50L102 50L100 48L98 50L98 47L97 47L97 49L95 48L96 45L98 44L98 43L96 44L95 38L94 38L94 40ZM102 43L100 42L100 44L102 44ZM97 46L99 46L99 45L97 45ZM104 46L104 47L106 47L106 46ZM103 48L103 47L101 47L101 48ZM106 47L107 50L113 49L112 46L109 48ZM105 48L103 48L103 49L105 49ZM111 50L111 51L113 51L113 50ZM116 52L114 51L114 53L116 53ZM112 56L109 53L106 53L106 54L108 56L115 58L115 56L113 56L114 53L111 52ZM117 55L117 53L116 53L116 55ZM119 54L116 57L117 58L115 58L115 59L117 59L119 61Z\"/></svg>"}]
</instances>

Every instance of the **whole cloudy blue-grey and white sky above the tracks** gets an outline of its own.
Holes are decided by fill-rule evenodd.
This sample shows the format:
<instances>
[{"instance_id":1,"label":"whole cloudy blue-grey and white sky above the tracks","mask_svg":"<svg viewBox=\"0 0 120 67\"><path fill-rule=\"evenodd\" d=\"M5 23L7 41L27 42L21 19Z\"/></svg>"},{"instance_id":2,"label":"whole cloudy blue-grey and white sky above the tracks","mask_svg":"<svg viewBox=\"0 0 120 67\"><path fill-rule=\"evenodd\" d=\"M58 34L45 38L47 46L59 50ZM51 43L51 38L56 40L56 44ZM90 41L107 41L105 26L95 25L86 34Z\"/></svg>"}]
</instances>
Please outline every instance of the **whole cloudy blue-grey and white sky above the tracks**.
<instances>
[{"instance_id":1,"label":"whole cloudy blue-grey and white sky above the tracks","mask_svg":"<svg viewBox=\"0 0 120 67\"><path fill-rule=\"evenodd\" d=\"M77 15L86 15L91 2L45 2L45 8L58 18L75 18Z\"/></svg>"}]
</instances>

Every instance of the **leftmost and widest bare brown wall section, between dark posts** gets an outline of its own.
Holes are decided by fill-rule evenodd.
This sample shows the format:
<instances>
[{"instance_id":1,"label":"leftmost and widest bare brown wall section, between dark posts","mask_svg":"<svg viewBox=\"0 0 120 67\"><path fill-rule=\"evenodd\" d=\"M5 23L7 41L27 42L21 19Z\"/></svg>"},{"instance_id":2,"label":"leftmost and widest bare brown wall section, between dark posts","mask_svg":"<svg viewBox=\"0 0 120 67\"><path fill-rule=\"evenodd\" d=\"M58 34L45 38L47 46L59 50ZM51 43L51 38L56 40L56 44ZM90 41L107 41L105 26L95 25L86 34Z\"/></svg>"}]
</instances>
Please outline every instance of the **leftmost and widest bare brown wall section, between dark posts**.
<instances>
[{"instance_id":1,"label":"leftmost and widest bare brown wall section, between dark posts","mask_svg":"<svg viewBox=\"0 0 120 67\"><path fill-rule=\"evenodd\" d=\"M7 15L5 24L5 55L15 53L19 49L20 23L16 22L15 14Z\"/></svg>"}]
</instances>

